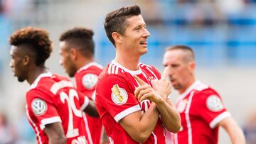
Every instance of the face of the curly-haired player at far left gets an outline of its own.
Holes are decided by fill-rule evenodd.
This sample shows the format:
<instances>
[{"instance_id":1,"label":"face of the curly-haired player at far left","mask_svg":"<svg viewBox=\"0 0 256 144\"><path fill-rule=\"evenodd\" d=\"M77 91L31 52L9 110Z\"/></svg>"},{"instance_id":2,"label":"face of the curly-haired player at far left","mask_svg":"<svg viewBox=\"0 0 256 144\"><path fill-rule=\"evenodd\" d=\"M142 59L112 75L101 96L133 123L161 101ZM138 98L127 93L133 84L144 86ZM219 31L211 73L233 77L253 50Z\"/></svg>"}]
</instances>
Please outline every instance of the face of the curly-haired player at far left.
<instances>
[{"instance_id":1,"label":"face of the curly-haired player at far left","mask_svg":"<svg viewBox=\"0 0 256 144\"><path fill-rule=\"evenodd\" d=\"M9 66L11 67L11 71L14 72L14 77L18 77L18 82L23 82L26 80L26 72L23 65L23 54L21 52L21 48L18 46L11 46L10 50L11 61Z\"/></svg>"}]
</instances>

